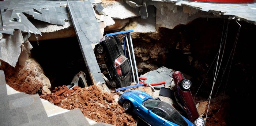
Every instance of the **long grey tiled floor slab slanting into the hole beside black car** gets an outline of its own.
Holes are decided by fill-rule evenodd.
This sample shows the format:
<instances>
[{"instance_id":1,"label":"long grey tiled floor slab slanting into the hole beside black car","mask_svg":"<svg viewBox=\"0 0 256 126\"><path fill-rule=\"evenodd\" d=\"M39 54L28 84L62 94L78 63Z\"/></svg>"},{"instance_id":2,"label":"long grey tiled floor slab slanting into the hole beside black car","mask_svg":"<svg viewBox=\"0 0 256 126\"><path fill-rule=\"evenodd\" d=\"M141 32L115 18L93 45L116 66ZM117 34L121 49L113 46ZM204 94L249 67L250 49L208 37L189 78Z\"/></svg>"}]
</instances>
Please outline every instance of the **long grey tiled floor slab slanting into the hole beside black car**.
<instances>
[{"instance_id":1,"label":"long grey tiled floor slab slanting into the hole beside black car","mask_svg":"<svg viewBox=\"0 0 256 126\"><path fill-rule=\"evenodd\" d=\"M90 1L68 2L68 11L74 24L75 32L83 54L84 61L89 71L92 83L105 83L97 63L92 44L98 43L102 38L100 24L95 18L94 9Z\"/></svg>"}]
</instances>

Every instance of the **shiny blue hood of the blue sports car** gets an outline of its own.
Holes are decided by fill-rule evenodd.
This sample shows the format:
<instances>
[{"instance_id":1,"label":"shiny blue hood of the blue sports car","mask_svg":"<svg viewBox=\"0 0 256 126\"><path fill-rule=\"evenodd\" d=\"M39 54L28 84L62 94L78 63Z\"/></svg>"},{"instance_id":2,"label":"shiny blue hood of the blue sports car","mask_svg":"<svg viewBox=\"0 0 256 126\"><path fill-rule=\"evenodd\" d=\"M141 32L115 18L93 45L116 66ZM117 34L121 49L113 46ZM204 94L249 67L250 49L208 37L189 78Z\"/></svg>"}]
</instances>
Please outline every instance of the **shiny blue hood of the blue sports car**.
<instances>
[{"instance_id":1,"label":"shiny blue hood of the blue sports car","mask_svg":"<svg viewBox=\"0 0 256 126\"><path fill-rule=\"evenodd\" d=\"M140 90L131 90L124 92L126 96L131 97L138 103L142 103L144 100L147 99L153 99L150 95L148 95L146 92L140 91Z\"/></svg>"}]
</instances>

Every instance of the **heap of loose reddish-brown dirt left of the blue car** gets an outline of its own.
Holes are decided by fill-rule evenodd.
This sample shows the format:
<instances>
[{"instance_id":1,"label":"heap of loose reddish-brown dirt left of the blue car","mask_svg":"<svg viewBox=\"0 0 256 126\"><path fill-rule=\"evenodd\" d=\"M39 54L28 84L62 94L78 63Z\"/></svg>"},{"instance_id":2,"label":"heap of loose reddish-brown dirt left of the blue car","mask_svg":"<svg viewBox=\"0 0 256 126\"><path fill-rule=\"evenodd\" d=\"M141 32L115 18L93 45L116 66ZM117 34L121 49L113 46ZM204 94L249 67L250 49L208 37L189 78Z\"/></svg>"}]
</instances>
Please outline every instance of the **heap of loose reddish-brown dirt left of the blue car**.
<instances>
[{"instance_id":1,"label":"heap of loose reddish-brown dirt left of the blue car","mask_svg":"<svg viewBox=\"0 0 256 126\"><path fill-rule=\"evenodd\" d=\"M68 110L79 108L85 117L96 122L116 126L136 126L136 117L125 113L117 102L118 92L103 92L101 87L92 85L86 88L67 86L56 87L52 93L40 95L40 98Z\"/></svg>"}]
</instances>

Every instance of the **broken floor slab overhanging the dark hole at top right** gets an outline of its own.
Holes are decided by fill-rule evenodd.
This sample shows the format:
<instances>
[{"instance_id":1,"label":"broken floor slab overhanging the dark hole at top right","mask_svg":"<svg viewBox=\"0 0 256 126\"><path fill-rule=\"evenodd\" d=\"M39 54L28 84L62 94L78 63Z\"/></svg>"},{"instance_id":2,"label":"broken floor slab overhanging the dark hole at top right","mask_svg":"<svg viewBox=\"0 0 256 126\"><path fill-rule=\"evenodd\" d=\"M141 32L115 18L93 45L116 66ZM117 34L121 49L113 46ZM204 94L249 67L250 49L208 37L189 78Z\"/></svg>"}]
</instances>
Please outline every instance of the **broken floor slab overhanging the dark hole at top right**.
<instances>
[{"instance_id":1,"label":"broken floor slab overhanging the dark hole at top right","mask_svg":"<svg viewBox=\"0 0 256 126\"><path fill-rule=\"evenodd\" d=\"M161 2L159 2L161 1ZM256 24L256 3L211 3L182 0L148 0L147 5L157 9L156 29L173 29L179 24L188 24L196 18L225 18L229 16Z\"/></svg>"}]
</instances>

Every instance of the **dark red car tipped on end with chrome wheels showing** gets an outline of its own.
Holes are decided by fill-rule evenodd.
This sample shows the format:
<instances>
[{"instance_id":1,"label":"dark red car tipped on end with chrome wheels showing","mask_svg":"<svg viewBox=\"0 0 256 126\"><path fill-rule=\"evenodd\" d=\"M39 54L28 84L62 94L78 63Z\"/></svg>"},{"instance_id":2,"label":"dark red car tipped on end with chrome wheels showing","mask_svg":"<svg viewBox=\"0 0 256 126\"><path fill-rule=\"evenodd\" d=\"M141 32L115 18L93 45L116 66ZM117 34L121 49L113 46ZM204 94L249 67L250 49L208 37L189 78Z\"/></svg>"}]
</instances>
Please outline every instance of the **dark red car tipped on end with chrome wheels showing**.
<instances>
[{"instance_id":1,"label":"dark red car tipped on end with chrome wheels showing","mask_svg":"<svg viewBox=\"0 0 256 126\"><path fill-rule=\"evenodd\" d=\"M172 76L177 88L177 91L174 92L177 103L187 112L189 121L194 122L195 126L204 126L205 121L199 117L196 104L189 90L192 85L191 81L185 79L180 71L175 71Z\"/></svg>"}]
</instances>

